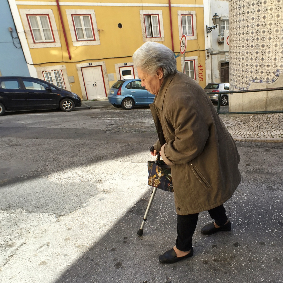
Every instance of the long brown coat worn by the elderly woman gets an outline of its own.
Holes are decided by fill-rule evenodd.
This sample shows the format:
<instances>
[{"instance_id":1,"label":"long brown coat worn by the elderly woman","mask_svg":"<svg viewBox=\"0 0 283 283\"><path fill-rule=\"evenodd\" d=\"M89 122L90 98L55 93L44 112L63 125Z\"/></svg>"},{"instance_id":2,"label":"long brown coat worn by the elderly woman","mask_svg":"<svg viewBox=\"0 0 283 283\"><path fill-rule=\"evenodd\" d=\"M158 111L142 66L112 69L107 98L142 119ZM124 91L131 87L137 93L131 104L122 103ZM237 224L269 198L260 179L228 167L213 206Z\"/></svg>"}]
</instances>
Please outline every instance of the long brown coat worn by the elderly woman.
<instances>
[{"instance_id":1,"label":"long brown coat worn by the elderly woman","mask_svg":"<svg viewBox=\"0 0 283 283\"><path fill-rule=\"evenodd\" d=\"M150 104L154 147L171 165L177 214L217 207L241 182L240 156L205 91L189 76L168 75ZM161 153L162 153L161 151Z\"/></svg>"}]
</instances>

